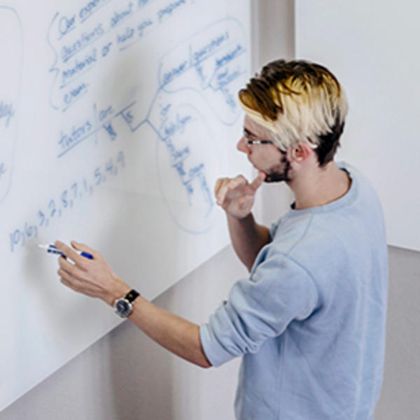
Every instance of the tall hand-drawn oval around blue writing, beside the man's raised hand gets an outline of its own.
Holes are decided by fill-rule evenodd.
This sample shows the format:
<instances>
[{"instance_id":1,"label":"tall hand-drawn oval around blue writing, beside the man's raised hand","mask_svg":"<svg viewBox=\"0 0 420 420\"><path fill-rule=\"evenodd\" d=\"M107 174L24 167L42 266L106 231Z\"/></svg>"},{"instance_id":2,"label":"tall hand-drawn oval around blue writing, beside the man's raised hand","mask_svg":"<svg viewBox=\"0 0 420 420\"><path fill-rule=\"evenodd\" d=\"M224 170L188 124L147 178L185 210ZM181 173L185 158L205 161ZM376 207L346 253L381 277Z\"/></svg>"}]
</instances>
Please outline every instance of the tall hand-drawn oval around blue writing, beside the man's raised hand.
<instances>
[{"instance_id":1,"label":"tall hand-drawn oval around blue writing, beside the man's raised hand","mask_svg":"<svg viewBox=\"0 0 420 420\"><path fill-rule=\"evenodd\" d=\"M203 233L214 224L216 156L209 129L190 104L172 106L159 127L157 162L165 204L179 228Z\"/></svg>"}]
</instances>

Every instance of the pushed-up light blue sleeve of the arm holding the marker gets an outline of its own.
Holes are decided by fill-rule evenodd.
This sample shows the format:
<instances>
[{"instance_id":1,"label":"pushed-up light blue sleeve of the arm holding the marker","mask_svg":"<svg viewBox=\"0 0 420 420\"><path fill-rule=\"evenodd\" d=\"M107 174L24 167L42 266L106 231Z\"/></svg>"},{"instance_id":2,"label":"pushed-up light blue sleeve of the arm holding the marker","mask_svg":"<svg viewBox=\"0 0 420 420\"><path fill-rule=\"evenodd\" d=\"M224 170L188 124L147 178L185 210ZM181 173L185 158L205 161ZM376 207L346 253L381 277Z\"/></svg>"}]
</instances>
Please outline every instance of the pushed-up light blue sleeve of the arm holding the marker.
<instances>
[{"instance_id":1,"label":"pushed-up light blue sleeve of the arm holding the marker","mask_svg":"<svg viewBox=\"0 0 420 420\"><path fill-rule=\"evenodd\" d=\"M291 321L307 318L317 302L306 269L271 252L248 279L235 283L229 299L200 326L204 353L214 366L256 353L265 339L281 335Z\"/></svg>"}]
</instances>

